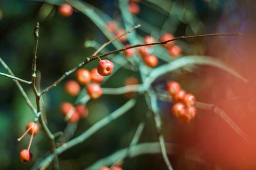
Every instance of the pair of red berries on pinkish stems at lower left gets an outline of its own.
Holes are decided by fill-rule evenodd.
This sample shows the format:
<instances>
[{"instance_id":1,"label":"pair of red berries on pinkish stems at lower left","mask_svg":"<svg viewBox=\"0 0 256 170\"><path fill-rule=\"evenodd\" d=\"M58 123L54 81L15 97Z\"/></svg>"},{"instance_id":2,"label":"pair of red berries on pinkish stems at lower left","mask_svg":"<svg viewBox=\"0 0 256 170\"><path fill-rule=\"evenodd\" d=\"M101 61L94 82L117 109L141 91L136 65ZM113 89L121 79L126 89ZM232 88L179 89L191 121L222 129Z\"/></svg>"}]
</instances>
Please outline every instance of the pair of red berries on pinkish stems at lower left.
<instances>
[{"instance_id":1,"label":"pair of red berries on pinkish stems at lower left","mask_svg":"<svg viewBox=\"0 0 256 170\"><path fill-rule=\"evenodd\" d=\"M27 133L29 133L31 135L28 149L23 149L22 151L20 151L20 161L21 162L28 163L32 160L33 154L29 151L29 149L30 149L30 146L32 143L33 136L37 135L38 131L39 131L38 124L35 122L29 122L26 126L25 133L20 138L18 138L18 141L20 141Z\"/></svg>"}]
</instances>

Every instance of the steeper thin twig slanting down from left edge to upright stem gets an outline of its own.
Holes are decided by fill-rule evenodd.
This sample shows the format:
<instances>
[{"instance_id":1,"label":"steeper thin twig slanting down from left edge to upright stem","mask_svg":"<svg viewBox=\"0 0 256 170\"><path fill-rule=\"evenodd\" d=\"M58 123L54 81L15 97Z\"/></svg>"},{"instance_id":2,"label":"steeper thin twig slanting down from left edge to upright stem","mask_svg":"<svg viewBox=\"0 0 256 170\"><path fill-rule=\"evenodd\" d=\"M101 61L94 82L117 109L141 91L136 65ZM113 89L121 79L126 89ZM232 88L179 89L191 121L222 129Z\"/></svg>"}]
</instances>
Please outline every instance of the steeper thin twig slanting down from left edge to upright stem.
<instances>
[{"instance_id":1,"label":"steeper thin twig slanting down from left edge to upright stem","mask_svg":"<svg viewBox=\"0 0 256 170\"><path fill-rule=\"evenodd\" d=\"M5 62L1 59L0 57L0 63L1 65L4 67L4 69L12 76L15 76L14 73L12 72L12 70L7 66L7 64L5 64ZM33 106L33 104L30 102L27 94L25 93L24 89L22 88L22 86L20 85L20 82L17 80L14 80L15 84L18 86L23 98L25 99L27 105L29 106L29 108L31 108L31 110L33 111L33 113L35 114L35 116L37 116L37 110L35 109L35 107Z\"/></svg>"}]
</instances>

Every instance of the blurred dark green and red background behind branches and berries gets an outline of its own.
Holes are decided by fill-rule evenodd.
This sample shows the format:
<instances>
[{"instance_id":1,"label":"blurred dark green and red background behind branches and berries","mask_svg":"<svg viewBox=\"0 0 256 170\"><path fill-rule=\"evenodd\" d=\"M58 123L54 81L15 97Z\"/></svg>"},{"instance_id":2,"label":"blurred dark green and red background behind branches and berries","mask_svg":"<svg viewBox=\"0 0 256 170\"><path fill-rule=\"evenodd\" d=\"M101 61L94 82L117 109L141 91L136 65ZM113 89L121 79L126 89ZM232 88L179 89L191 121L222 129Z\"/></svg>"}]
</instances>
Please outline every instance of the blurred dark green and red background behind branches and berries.
<instances>
[{"instance_id":1,"label":"blurred dark green and red background behind branches and berries","mask_svg":"<svg viewBox=\"0 0 256 170\"><path fill-rule=\"evenodd\" d=\"M17 77L25 80L30 80L31 77L33 30L35 23L37 21L40 23L38 69L42 75L42 88L51 85L65 71L76 67L90 56L98 47L92 42L103 44L108 40L94 21L79 10L74 9L71 17L62 17L58 13L58 5L55 4L64 2L59 0L47 2L49 3L40 0L0 1L0 57ZM114 18L120 27L124 28L118 0L85 0L85 2ZM179 40L177 45L182 50L182 56L206 55L222 60L248 79L247 84L222 70L209 66L178 69L161 77L155 84L165 84L168 80L178 81L187 92L195 94L198 101L217 104L251 139L251 144L248 144L212 111L198 109L195 119L188 124L180 124L171 114L172 103L159 101L166 142L180 144L187 149L186 151L195 150L198 159L204 162L189 159L187 152L172 154L169 155L169 159L175 170L255 170L256 2L253 0L141 0L138 5L140 12L133 15L133 19L135 24L141 24L136 31L141 36L138 37L140 42L145 35L158 38L163 33L171 33L176 37L242 33L241 36L236 37ZM95 12L98 13L98 10ZM101 16L100 13L98 15ZM109 20L108 17L103 16L102 19L105 22ZM110 45L107 50L115 50L115 47ZM118 55L121 57L122 54ZM91 62L85 68L96 67L97 62ZM164 61L159 62L160 65L162 63ZM2 67L0 72L6 73ZM138 72L120 68L102 86L123 86L126 78L130 76L139 79ZM53 133L63 131L67 125L59 111L60 103L65 101L74 103L77 100L64 91L64 82L71 79L75 79L75 74L43 96L48 126ZM23 87L33 100L33 92L29 86L23 85ZM34 116L12 80L0 77L0 94L0 169L30 169L48 154L49 142L43 132L39 132L31 146L34 156L32 162L22 164L19 153L20 150L27 148L29 136L25 136L19 143L17 138L23 134L26 124L33 121ZM96 101L88 102L89 116L79 121L74 136L79 136L126 101L127 98L123 95L104 95ZM100 129L85 142L60 154L60 169L82 170L98 159L128 147L139 122L145 118L146 113L145 99L139 96L137 104L127 114ZM146 119L146 126L139 143L154 141L158 141L155 123L149 118ZM167 170L161 154L140 155L127 159L123 169Z\"/></svg>"}]
</instances>

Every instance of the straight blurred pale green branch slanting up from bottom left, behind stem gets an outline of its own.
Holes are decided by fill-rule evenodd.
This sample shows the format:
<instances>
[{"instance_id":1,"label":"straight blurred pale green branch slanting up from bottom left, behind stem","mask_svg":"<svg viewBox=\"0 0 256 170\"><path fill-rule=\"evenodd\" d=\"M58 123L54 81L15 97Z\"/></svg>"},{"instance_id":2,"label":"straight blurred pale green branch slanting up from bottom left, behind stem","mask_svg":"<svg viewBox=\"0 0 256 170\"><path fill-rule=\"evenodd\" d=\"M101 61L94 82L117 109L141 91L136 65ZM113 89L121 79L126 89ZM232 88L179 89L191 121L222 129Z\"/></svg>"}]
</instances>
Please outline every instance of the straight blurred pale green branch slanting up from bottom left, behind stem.
<instances>
[{"instance_id":1,"label":"straight blurred pale green branch slanting up from bottom left, behind stem","mask_svg":"<svg viewBox=\"0 0 256 170\"><path fill-rule=\"evenodd\" d=\"M65 152L66 150L72 148L73 146L78 145L79 143L82 143L84 140L86 140L88 137L95 134L99 129L104 127L105 125L111 123L113 120L117 119L118 117L122 116L124 113L126 113L129 109L131 109L136 103L135 99L131 99L125 104L123 104L121 107L119 107L116 111L108 115L107 117L99 120L97 123L95 123L92 127L90 127L87 131L79 135L78 137L73 138L69 142L65 143L64 145L60 146L56 149L55 153L59 155L60 153ZM39 167L36 168L36 170L40 169L41 167L45 167L46 165L49 165L52 161L54 155L50 154L48 155L40 164Z\"/></svg>"}]
</instances>

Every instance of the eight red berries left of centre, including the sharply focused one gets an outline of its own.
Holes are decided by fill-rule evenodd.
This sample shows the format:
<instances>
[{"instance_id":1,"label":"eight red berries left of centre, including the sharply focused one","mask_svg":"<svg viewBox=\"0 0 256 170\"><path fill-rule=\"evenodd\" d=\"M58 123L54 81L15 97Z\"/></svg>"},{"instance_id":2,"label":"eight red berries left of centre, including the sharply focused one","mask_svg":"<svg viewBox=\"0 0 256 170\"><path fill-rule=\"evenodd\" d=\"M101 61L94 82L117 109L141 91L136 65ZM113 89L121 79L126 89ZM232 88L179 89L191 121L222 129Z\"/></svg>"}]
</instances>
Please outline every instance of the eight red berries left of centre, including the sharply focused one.
<instances>
[{"instance_id":1,"label":"eight red berries left of centre, including the sharply focused one","mask_svg":"<svg viewBox=\"0 0 256 170\"><path fill-rule=\"evenodd\" d=\"M65 83L65 91L72 96L77 96L80 92L80 85L86 85L90 98L98 99L102 95L102 88L98 83L104 80L104 76L110 75L113 68L114 65L110 60L100 60L98 67L93 68L91 71L80 68L77 71L77 81L67 81ZM88 109L83 104L77 104L74 107L69 102L63 102L60 105L60 111L65 116L65 119L70 122L78 122L79 119L84 119L88 115Z\"/></svg>"}]
</instances>

